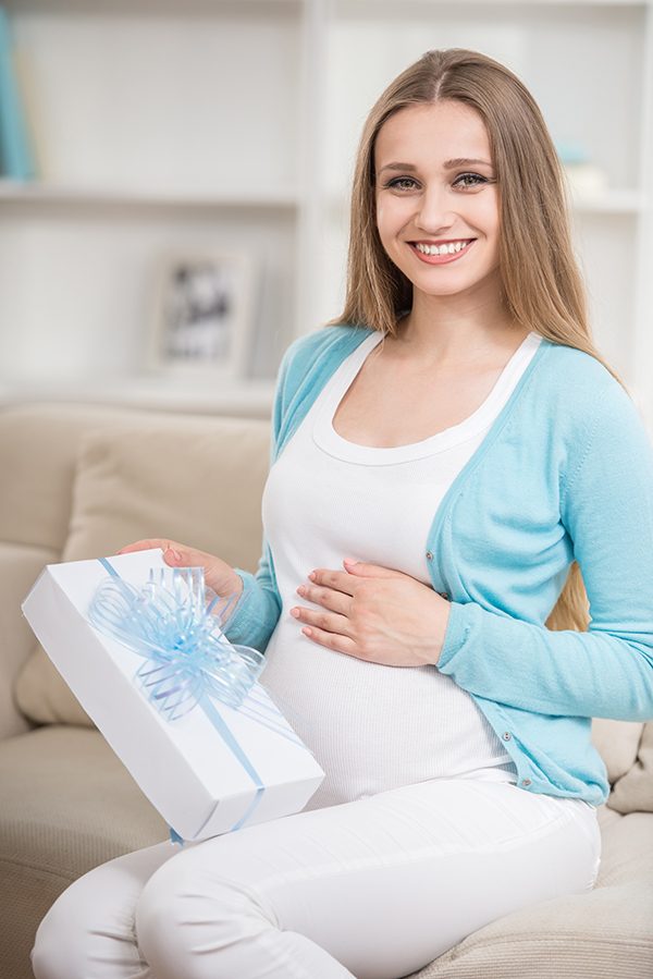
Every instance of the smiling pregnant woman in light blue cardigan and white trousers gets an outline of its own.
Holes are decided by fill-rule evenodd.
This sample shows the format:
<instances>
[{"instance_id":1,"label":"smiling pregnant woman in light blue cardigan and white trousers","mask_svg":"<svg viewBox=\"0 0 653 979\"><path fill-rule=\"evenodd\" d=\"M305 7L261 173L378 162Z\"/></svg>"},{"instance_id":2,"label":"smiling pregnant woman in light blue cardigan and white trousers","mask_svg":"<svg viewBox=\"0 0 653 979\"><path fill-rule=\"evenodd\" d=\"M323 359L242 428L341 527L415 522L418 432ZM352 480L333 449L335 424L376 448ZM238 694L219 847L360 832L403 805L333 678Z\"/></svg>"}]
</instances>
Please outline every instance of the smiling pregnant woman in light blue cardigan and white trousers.
<instances>
[{"instance_id":1,"label":"smiling pregnant woman in light blue cardigan and white trousers","mask_svg":"<svg viewBox=\"0 0 653 979\"><path fill-rule=\"evenodd\" d=\"M593 885L590 719L653 717L653 466L544 122L491 59L429 52L373 108L342 322L284 360L257 577L125 549L242 592L227 635L267 647L326 779L310 811L87 874L38 979L397 979Z\"/></svg>"}]
</instances>

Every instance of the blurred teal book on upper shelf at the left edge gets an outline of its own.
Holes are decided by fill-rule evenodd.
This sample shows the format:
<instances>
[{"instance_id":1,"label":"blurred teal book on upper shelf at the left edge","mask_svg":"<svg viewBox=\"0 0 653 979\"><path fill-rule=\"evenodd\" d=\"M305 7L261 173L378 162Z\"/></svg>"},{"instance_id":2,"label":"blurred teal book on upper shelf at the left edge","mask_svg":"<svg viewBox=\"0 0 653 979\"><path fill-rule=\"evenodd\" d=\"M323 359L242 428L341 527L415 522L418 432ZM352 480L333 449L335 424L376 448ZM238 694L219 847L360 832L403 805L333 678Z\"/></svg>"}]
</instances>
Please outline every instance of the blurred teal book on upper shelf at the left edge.
<instances>
[{"instance_id":1,"label":"blurred teal book on upper shelf at the left edge","mask_svg":"<svg viewBox=\"0 0 653 979\"><path fill-rule=\"evenodd\" d=\"M0 7L0 159L2 175L32 180L34 157L19 89L13 41L7 11Z\"/></svg>"}]
</instances>

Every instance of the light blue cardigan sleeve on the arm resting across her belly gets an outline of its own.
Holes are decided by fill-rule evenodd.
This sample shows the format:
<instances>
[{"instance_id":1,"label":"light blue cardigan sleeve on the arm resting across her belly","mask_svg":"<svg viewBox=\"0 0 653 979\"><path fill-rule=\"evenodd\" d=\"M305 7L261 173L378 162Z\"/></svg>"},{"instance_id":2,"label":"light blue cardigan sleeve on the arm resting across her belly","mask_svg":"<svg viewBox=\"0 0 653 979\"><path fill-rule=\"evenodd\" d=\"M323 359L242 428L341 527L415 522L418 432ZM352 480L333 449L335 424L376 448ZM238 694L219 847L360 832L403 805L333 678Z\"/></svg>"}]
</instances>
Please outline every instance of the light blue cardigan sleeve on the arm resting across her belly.
<instances>
[{"instance_id":1,"label":"light blue cardigan sleeve on the arm resting across her belly","mask_svg":"<svg viewBox=\"0 0 653 979\"><path fill-rule=\"evenodd\" d=\"M551 715L653 718L653 458L637 412L612 384L560 516L588 598L589 632L550 632L475 602L453 603L442 673L479 697Z\"/></svg>"}]
</instances>

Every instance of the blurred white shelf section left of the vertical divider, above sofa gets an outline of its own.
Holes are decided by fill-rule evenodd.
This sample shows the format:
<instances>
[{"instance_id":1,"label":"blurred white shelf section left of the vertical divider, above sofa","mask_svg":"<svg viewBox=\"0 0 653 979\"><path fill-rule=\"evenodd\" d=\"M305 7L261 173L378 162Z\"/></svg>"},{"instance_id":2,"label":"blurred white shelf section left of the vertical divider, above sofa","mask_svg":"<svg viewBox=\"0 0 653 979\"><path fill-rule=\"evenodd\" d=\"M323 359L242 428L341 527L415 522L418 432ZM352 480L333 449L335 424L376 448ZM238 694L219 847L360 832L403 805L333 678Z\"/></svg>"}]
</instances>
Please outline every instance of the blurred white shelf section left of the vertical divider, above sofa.
<instances>
[{"instance_id":1,"label":"blurred white shelf section left of the vertical divider, above sofa","mask_svg":"<svg viewBox=\"0 0 653 979\"><path fill-rule=\"evenodd\" d=\"M10 0L42 178L0 183L0 399L268 414L304 236L300 0ZM160 256L247 253L246 377L144 367Z\"/></svg>"}]
</instances>

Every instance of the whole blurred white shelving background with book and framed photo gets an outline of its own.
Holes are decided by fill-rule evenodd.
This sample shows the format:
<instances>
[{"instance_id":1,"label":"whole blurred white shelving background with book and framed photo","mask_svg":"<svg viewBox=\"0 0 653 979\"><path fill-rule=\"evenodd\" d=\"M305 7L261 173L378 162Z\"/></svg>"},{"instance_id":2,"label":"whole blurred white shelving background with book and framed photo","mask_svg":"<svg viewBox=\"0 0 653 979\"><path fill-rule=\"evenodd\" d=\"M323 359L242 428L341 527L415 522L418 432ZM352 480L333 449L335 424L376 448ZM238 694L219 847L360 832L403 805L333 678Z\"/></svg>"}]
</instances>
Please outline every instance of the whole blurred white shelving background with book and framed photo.
<instances>
[{"instance_id":1,"label":"whole blurred white shelving background with book and framed photo","mask_svg":"<svg viewBox=\"0 0 653 979\"><path fill-rule=\"evenodd\" d=\"M365 115L424 50L542 107L599 343L653 430L653 5L602 0L7 0L0 402L264 416L343 302Z\"/></svg>"}]
</instances>

